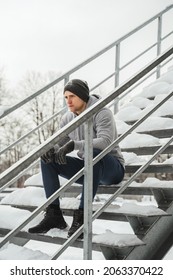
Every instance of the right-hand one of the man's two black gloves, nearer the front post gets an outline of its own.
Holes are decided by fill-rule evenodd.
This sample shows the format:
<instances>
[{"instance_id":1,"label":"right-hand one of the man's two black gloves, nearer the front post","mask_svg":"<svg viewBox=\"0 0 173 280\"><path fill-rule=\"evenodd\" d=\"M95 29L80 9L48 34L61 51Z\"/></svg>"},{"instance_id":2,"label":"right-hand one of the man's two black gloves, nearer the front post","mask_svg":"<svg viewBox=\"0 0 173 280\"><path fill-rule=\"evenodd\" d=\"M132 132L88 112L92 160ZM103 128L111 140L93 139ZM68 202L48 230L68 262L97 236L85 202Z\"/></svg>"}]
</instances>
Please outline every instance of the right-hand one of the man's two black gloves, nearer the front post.
<instances>
[{"instance_id":1,"label":"right-hand one of the man's two black gloves, nearer the front post","mask_svg":"<svg viewBox=\"0 0 173 280\"><path fill-rule=\"evenodd\" d=\"M62 146L56 153L55 153L55 162L58 164L66 164L66 154L71 153L74 150L74 141L70 141L64 146Z\"/></svg>"}]
</instances>

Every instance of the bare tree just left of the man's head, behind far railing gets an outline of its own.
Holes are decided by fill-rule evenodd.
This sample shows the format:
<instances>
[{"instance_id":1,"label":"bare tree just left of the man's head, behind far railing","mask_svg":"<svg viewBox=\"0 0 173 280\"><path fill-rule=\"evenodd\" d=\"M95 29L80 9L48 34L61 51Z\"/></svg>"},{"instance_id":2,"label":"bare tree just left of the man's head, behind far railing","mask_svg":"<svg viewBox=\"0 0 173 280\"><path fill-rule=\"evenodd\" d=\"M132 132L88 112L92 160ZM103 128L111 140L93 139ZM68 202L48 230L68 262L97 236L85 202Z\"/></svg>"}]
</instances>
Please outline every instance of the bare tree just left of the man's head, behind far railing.
<instances>
[{"instance_id":1,"label":"bare tree just left of the man's head, behind far railing","mask_svg":"<svg viewBox=\"0 0 173 280\"><path fill-rule=\"evenodd\" d=\"M44 75L33 71L29 72L21 84L22 93L28 96L55 80L57 76L58 75L54 72L48 72ZM62 108L61 92L62 86L55 85L36 97L26 106L26 112L30 115L36 126L40 125L43 121ZM38 130L39 143L42 143L56 131L59 124L59 118L60 116L54 118Z\"/></svg>"}]
</instances>

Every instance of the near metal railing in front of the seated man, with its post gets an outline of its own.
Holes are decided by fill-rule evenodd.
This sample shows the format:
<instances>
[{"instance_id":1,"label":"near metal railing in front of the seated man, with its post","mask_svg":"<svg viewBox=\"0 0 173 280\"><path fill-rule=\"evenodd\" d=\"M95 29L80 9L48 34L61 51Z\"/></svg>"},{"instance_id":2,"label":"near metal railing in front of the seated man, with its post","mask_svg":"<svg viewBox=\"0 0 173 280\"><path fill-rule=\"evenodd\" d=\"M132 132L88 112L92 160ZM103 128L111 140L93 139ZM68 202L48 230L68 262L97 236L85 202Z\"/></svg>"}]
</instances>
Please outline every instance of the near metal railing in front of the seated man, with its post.
<instances>
[{"instance_id":1,"label":"near metal railing in front of the seated man, with its post","mask_svg":"<svg viewBox=\"0 0 173 280\"><path fill-rule=\"evenodd\" d=\"M120 96L125 90L130 88L132 85L134 85L137 81L139 81L142 77L144 77L147 73L149 73L151 70L153 70L155 67L157 67L161 62L163 62L165 59L170 57L173 54L173 46L171 46L166 52L164 52L162 55L154 59L151 63L149 63L146 67L144 67L142 70L140 70L137 74L135 74L133 77L131 77L129 80L127 80L125 83L123 83L121 86L117 87L115 90L113 90L108 96L102 98L99 100L95 105L92 107L88 108L86 111L84 111L81 115L78 116L76 120L73 120L70 122L68 125L66 125L64 128L62 128L60 131L52 135L48 140L46 140L44 143L42 143L39 147L31 151L27 156L19 160L16 164L14 164L12 167L10 167L8 170L4 171L0 175L0 187L3 187L4 184L7 184L9 180L12 180L19 172L22 170L26 169L29 167L30 164L32 164L35 160L40 157L45 150L48 150L52 145L55 145L55 143L61 139L64 135L69 134L71 131L73 131L76 127L81 125L82 123L86 123L86 129L85 129L85 138L88 139L86 141L86 147L85 150L88 151L88 153L85 155L87 160L85 164L85 168L79 171L75 176L71 178L70 181L68 181L64 186L62 186L57 192L55 192L44 204L42 204L40 207L38 207L30 216L28 219L26 219L21 225L19 225L17 228L9 232L2 241L0 242L0 246L3 246L7 241L9 241L14 235L16 235L26 224L28 224L34 217L36 217L43 209L45 209L52 201L55 200L62 192L64 192L71 184L73 184L78 178L80 178L83 173L88 176L87 180L85 180L85 184L88 184L88 180L91 180L91 170L88 166L91 167L91 156L92 153L89 152L91 147L91 138L88 137L88 131L91 131L91 118L93 114L95 114L99 109L103 108L104 106L108 105L112 100ZM127 132L125 132L122 136L120 136L114 143L112 143L105 151L103 151L97 158L94 159L93 164L95 164L98 160L100 160L101 157L103 157L105 154L107 154L109 151L112 150L114 145L118 144L120 141L122 141L126 135L130 132L133 131L140 123L142 123L150 114L152 114L156 109L158 109L164 102L166 102L171 96L173 95L173 92L171 92L164 100L162 100L159 104L157 104L149 113L147 113L143 118L141 118L137 123L135 123ZM156 156L161 150L165 149L167 145L169 145L172 142L172 138L161 148L155 153L154 156ZM90 157L88 157L88 155ZM153 158L154 159L154 158ZM139 172L142 172L144 168L146 168L149 164L151 163L151 159L149 160L148 163L146 163ZM139 174L137 171L135 174L136 176ZM134 177L133 177L134 179ZM132 179L130 179L131 182ZM122 191L128 186L123 185L122 186ZM88 186L86 186L85 190L85 205L87 207L84 209L85 215L87 218L84 219L84 258L85 259L90 259L91 258L91 238L87 238L87 236L91 235L91 209L92 207L92 201L91 201L91 196L90 193L91 191L88 189ZM90 192L90 193L89 193ZM119 194L119 192L118 192ZM111 203L112 199L114 199L116 194L110 198L109 202ZM86 199L87 197L87 199ZM105 207L108 206L108 202L106 203L103 208L98 210L93 218L98 217L100 213L105 209ZM64 250L67 246L69 246L81 233L81 228L71 237L69 240L65 242L63 245L63 249L60 249L60 251ZM53 257L56 258L59 253L56 253Z\"/></svg>"}]
</instances>

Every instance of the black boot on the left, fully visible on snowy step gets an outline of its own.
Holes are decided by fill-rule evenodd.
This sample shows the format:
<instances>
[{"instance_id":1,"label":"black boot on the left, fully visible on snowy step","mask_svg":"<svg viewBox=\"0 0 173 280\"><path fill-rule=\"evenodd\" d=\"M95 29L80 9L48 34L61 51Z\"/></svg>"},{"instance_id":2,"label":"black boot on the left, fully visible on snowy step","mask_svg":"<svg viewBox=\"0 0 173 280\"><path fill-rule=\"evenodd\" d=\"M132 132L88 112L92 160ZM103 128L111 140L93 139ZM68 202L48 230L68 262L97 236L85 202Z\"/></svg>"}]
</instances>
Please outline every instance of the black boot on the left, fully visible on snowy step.
<instances>
[{"instance_id":1,"label":"black boot on the left, fully visible on snowy step","mask_svg":"<svg viewBox=\"0 0 173 280\"><path fill-rule=\"evenodd\" d=\"M30 233L46 233L52 228L65 229L67 224L58 205L49 205L44 219L35 227L29 228Z\"/></svg>"}]
</instances>

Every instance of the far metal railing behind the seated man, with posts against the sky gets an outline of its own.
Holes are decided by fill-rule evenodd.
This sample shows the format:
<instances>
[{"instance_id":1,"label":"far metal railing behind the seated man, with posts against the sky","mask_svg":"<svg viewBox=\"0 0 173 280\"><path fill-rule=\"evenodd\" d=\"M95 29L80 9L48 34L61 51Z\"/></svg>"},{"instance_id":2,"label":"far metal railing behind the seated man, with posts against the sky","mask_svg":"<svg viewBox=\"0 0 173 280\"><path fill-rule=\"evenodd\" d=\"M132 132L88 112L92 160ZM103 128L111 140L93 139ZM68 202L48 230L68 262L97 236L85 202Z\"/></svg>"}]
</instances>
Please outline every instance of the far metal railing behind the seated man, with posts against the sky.
<instances>
[{"instance_id":1,"label":"far metal railing behind the seated man, with posts against the sky","mask_svg":"<svg viewBox=\"0 0 173 280\"><path fill-rule=\"evenodd\" d=\"M113 71L112 73L110 73L107 77L105 77L103 80L101 80L100 82L96 83L92 88L91 88L91 92L94 91L95 89L97 89L99 86L103 85L105 82L107 82L108 80L110 80L111 78L114 78L114 87L117 87L119 85L120 82L120 77L121 77L121 72L122 70L124 70L125 68L127 68L129 65L132 65L133 62L135 62L136 60L138 60L139 58L141 58L143 55L145 55L146 53L148 53L150 50L156 48L156 56L158 56L161 52L161 47L162 47L162 42L167 39L168 37L170 37L173 34L173 31L167 33L165 36L162 36L162 29L164 26L164 22L163 22L163 15L165 15L167 12L169 12L171 9L173 8L173 5L170 5L168 7L166 7L163 11L161 11L160 13L156 14L155 16L153 16L151 19L147 20L146 22L144 22L143 24L139 25L137 28L133 29L132 31L130 31L129 33L127 33L126 35L122 36L121 38L119 38L118 40L116 40L115 42L113 42L112 44L108 45L106 48L102 49L101 51L97 52L96 54L94 54L93 56L91 56L90 58L86 59L85 61L83 61L82 63L80 63L79 65L77 65L76 67L72 68L71 70L67 71L66 73L64 73L63 75L61 75L60 77L58 77L56 80L54 80L53 82L51 82L50 84L46 85L45 87L43 87L42 89L38 90L37 92L35 92L34 94L30 95L29 97L25 98L24 100L20 101L19 103L17 103L16 105L12 106L11 108L8 108L6 111L4 111L4 113L0 116L0 119L8 116L10 113L16 111L17 109L21 108L22 106L24 106L25 104L27 104L28 102L30 102L31 100L33 100L34 98L38 97L39 95L41 95L42 93L46 92L48 89L50 89L51 87L53 87L54 85L64 82L66 83L69 79L71 75L74 75L74 73L76 73L78 70L83 69L84 67L86 67L87 65L89 65L90 63L92 63L93 61L95 61L97 58L100 58L102 55L106 54L107 52L109 52L112 49L115 49L114 51L114 57L112 58L115 61L115 71ZM144 51L141 51L137 56L135 56L133 59L129 60L127 63L125 63L124 65L121 66L121 45L122 43L124 43L128 38L130 38L132 35L136 34L139 31L142 31L146 26L149 26L150 24L152 24L153 22L157 21L157 38L156 38L156 42L151 44L148 48L146 48ZM150 74L157 74L157 77L160 76L160 70L161 67L163 65L159 65L154 71L153 73ZM146 78L145 78L146 80ZM135 87L139 86L143 81L140 81L138 83L138 85L135 85ZM134 89L133 88L133 89ZM129 92L126 92L124 95L121 95L121 99L125 97L125 95L129 94ZM110 104L110 107L114 106L114 112L116 112L116 108L117 108L117 101L113 102L113 104ZM63 108L62 110L66 110L66 108ZM61 110L61 111L62 111ZM60 111L60 112L61 112ZM54 114L53 116L51 116L50 118L48 118L47 120L45 120L44 122L42 122L40 125L38 125L37 127L35 127L33 130L29 131L28 133L26 133L25 135L21 136L19 139L17 139L16 141L14 141L13 143L11 143L9 146L3 148L0 151L0 155L5 153L6 151L12 149L13 147L15 147L16 145L18 145L21 141L23 141L24 139L26 139L29 135L31 135L32 133L34 133L36 130L38 130L39 128L43 127L47 122L50 122L51 120L53 120L58 114L60 114L60 112Z\"/></svg>"}]
</instances>

